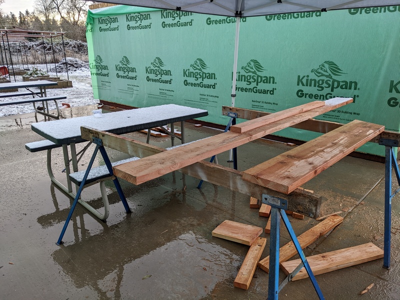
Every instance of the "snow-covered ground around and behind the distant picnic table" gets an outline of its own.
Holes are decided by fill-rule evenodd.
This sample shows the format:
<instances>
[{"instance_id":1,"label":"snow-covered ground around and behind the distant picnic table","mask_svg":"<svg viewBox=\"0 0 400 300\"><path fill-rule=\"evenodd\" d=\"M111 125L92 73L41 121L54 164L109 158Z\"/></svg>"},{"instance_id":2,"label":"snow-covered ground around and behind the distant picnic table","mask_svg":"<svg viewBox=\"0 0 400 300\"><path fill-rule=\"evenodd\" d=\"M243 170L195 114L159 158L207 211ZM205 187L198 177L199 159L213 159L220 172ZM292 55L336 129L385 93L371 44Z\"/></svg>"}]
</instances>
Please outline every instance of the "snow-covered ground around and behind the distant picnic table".
<instances>
[{"instance_id":1,"label":"snow-covered ground around and behind the distant picnic table","mask_svg":"<svg viewBox=\"0 0 400 300\"><path fill-rule=\"evenodd\" d=\"M54 66L54 65L52 65ZM38 64L37 67L45 70L46 65ZM48 66L51 67L51 66ZM55 72L48 72L50 76L55 76ZM73 87L67 88L51 88L47 89L47 96L65 95L66 99L62 102L69 103L71 106L82 106L88 104L95 104L98 100L93 99L93 90L91 88L90 71L88 68L82 67L75 71L69 71L69 80L72 81ZM67 79L66 72L58 72L58 77L61 79ZM22 81L22 76L15 76L16 81ZM11 82L14 81L13 76L11 76ZM19 89L19 91L23 91ZM1 93L7 94L7 93ZM24 96L27 97L27 96ZM10 101L16 100L20 97L4 97L0 98L0 101ZM59 106L61 106L61 101L59 101ZM53 101L48 102L49 109L55 109ZM0 116L18 114L18 113L28 113L33 112L32 103L27 104L17 104L17 105L6 105L0 106Z\"/></svg>"}]
</instances>

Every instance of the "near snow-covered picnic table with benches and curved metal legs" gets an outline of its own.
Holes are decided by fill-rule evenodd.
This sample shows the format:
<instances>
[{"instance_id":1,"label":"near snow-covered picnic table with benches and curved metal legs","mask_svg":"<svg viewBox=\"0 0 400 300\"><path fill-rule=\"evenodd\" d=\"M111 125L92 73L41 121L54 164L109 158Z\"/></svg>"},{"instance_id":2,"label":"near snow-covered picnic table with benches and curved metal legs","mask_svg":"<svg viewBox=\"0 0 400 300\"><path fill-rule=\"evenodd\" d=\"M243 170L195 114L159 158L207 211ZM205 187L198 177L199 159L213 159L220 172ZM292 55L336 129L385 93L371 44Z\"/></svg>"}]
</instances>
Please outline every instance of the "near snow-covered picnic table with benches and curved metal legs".
<instances>
[{"instance_id":1,"label":"near snow-covered picnic table with benches and curved metal legs","mask_svg":"<svg viewBox=\"0 0 400 300\"><path fill-rule=\"evenodd\" d=\"M78 172L79 158L77 156L80 155L81 157L84 151L87 149L88 145L91 143L89 142L89 144L87 144L79 153L76 153L75 144L87 141L81 137L80 133L81 126L88 126L91 128L95 128L97 130L107 131L114 134L124 134L133 131L150 129L152 127L171 124L170 135L171 135L171 143L173 146L175 137L181 139L181 142L184 143L185 120L206 116L207 114L208 114L207 110L204 109L192 108L176 104L165 104L165 105L157 105L157 106L143 107L137 109L115 111L109 113L101 113L101 114L93 113L93 115L61 119L61 120L53 120L50 122L38 122L38 123L33 123L31 125L31 129L34 132L46 138L46 140L29 143L26 144L25 147L32 152L38 150L47 150L47 170L51 178L51 181L55 185L57 185L60 189L62 189L64 192L66 192L70 197L74 198L76 193L72 192L72 183L76 184L76 190L77 190L80 182L82 181L82 176L83 176L83 174L75 177L72 176L73 174L79 174ZM181 122L181 137L175 136L173 134L174 132L173 123L179 121ZM149 132L150 130L148 130L147 134L148 137L149 137ZM68 145L69 145L69 152L68 152ZM63 150L67 186L59 182L54 177L51 169L51 149L60 146L62 146ZM71 157L69 157L69 153ZM70 169L70 162L72 162L72 172ZM79 199L80 204L82 204L90 212L92 212L95 216L97 216L102 220L106 219L108 215L108 200L106 198L105 188L103 188L101 184L103 184L103 180L105 178L110 177L106 168L105 168L106 175L103 175L103 173L104 173L103 171L97 173L93 172L93 175L91 176L91 182L88 183L93 184L93 182L94 183L100 182L100 190L102 193L102 198L105 208L104 213L103 214L99 213L89 204ZM71 179L74 180L74 182L72 182Z\"/></svg>"}]
</instances>

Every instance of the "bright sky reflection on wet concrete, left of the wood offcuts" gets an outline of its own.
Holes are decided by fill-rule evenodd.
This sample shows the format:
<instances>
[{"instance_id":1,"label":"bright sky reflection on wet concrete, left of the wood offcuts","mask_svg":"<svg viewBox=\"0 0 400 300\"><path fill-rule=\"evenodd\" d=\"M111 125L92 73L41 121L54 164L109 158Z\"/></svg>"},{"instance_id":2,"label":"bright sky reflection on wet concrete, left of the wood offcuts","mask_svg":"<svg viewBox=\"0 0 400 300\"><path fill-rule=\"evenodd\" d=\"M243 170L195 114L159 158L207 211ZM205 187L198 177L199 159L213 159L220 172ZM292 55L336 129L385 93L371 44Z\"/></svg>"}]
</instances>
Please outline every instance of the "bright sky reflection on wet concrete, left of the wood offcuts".
<instances>
[{"instance_id":1,"label":"bright sky reflection on wet concrete, left of the wood offcuts","mask_svg":"<svg viewBox=\"0 0 400 300\"><path fill-rule=\"evenodd\" d=\"M188 232L125 264L119 293L122 298L199 299L235 272L240 261L229 250Z\"/></svg>"}]
</instances>

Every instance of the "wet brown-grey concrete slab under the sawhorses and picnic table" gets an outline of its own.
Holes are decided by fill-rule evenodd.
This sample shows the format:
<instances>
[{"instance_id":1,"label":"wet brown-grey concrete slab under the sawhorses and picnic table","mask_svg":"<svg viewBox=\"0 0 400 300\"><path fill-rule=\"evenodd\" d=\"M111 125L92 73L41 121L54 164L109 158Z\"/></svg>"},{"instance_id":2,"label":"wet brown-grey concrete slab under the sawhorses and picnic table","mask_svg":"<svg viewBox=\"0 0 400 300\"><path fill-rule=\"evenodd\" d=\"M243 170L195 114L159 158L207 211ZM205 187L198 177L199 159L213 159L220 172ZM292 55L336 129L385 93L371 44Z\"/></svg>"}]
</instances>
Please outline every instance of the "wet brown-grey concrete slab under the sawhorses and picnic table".
<instances>
[{"instance_id":1,"label":"wet brown-grey concrete slab under the sawhorses and picnic table","mask_svg":"<svg viewBox=\"0 0 400 300\"><path fill-rule=\"evenodd\" d=\"M92 106L72 108L65 115L91 113ZM111 181L107 222L93 218L78 205L63 238L61 231L72 199L50 183L45 153L30 153L26 142L42 139L30 130L34 114L0 118L0 294L4 299L265 299L268 274L257 268L248 290L233 287L233 280L248 246L211 236L229 219L264 227L267 218L249 208L249 197L173 172L138 186L121 180L132 213L126 214ZM186 125L186 140L216 134L207 127ZM145 140L145 134L129 136ZM151 137L152 144L169 146L168 138ZM83 144L77 145L77 150ZM290 149L290 145L259 140L238 149L244 170ZM87 166L90 152L79 162ZM126 154L109 149L111 160ZM228 153L217 155L231 166ZM97 157L95 165L102 164ZM53 170L64 180L61 149L53 149ZM342 211L344 221L327 236L308 246L314 255L361 243L383 248L384 165L346 157L304 184L323 196L322 214ZM393 178L395 182L395 178ZM82 198L101 208L98 185L84 189ZM347 267L316 279L326 299L356 299L370 283L366 299L400 298L400 204L392 201L391 268L382 259ZM289 216L298 235L318 223ZM269 234L261 258L269 253ZM282 228L280 244L289 241ZM296 256L294 258L297 258ZM284 279L279 273L280 280ZM289 282L282 299L317 298L308 279Z\"/></svg>"}]
</instances>

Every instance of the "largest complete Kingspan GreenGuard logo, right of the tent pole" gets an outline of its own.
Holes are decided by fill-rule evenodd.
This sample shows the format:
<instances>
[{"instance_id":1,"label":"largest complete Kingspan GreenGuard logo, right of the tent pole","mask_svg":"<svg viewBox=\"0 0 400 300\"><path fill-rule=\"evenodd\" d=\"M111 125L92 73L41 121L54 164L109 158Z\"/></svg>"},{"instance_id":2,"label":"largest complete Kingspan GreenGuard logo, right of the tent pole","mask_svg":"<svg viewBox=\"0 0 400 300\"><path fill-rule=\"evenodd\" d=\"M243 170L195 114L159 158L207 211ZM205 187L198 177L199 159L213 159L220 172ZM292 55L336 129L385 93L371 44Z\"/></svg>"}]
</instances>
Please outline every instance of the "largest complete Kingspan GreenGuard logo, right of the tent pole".
<instances>
[{"instance_id":1,"label":"largest complete Kingspan GreenGuard logo, right of the tent pole","mask_svg":"<svg viewBox=\"0 0 400 300\"><path fill-rule=\"evenodd\" d=\"M352 96L350 92L359 90L358 82L353 80L341 80L344 72L336 63L326 60L321 63L318 68L311 69L311 72L317 78L312 78L310 75L297 75L297 86L315 87L317 91L326 91L325 93L305 92L303 89L298 89L296 92L299 98L326 100L333 97ZM318 79L319 78L319 79ZM338 93L336 95L333 92ZM354 99L358 95L354 94Z\"/></svg>"}]
</instances>

